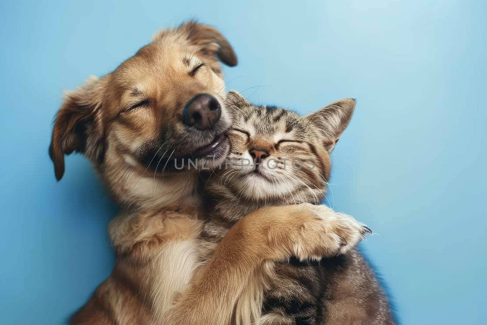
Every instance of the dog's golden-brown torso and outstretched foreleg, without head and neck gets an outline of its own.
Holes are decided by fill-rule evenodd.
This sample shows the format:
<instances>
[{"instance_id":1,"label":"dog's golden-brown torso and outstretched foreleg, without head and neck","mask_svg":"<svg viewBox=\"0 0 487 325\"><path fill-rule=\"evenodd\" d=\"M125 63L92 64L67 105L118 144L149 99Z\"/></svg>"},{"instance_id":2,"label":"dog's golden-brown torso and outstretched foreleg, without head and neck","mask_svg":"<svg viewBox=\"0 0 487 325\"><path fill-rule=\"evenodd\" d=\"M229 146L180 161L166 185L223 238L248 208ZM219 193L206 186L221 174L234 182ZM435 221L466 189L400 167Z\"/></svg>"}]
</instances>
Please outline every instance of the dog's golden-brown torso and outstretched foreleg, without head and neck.
<instances>
[{"instance_id":1,"label":"dog's golden-brown torso and outstretched foreleg, without head and neck","mask_svg":"<svg viewBox=\"0 0 487 325\"><path fill-rule=\"evenodd\" d=\"M168 281L161 278L168 273L161 271L164 264L171 263L168 257L175 246L199 238L199 211L166 208L118 216L110 225L117 252L113 272L72 323L229 324L238 300L245 300L244 289L248 291L248 286L255 284L262 286L259 276L269 272L268 262L289 256L306 259L334 255L341 249L340 238L352 235L346 231L359 231L353 223L338 227L337 215L323 208L302 204L248 214L228 232L186 289L190 278L178 279L174 287L161 286L161 281ZM187 245L185 249L191 247L196 248ZM177 256L184 257L191 258L191 254ZM197 254L193 257L196 259ZM195 268L197 261L188 264ZM170 305L178 292L181 298L165 314L161 305ZM252 299L250 302L254 303ZM251 315L245 312L248 307L242 306L243 315L248 318L240 322L250 320ZM236 312L239 315L239 310Z\"/></svg>"}]
</instances>

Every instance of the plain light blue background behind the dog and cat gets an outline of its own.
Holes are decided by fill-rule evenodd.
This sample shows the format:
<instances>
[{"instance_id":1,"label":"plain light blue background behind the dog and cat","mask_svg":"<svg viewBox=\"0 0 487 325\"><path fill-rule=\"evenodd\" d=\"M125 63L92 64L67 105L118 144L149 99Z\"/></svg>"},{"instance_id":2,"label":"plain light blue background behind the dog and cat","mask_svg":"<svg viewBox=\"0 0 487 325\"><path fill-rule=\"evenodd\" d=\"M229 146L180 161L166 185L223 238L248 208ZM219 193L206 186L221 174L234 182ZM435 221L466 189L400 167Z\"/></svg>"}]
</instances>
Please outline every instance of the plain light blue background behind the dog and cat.
<instances>
[{"instance_id":1,"label":"plain light blue background behind the dog and cat","mask_svg":"<svg viewBox=\"0 0 487 325\"><path fill-rule=\"evenodd\" d=\"M113 265L116 207L89 162L56 183L62 90L101 76L160 27L197 18L239 56L228 89L301 113L356 115L328 200L376 235L362 247L402 324L485 324L485 1L1 1L0 323L58 324ZM251 95L255 90L245 91Z\"/></svg>"}]
</instances>

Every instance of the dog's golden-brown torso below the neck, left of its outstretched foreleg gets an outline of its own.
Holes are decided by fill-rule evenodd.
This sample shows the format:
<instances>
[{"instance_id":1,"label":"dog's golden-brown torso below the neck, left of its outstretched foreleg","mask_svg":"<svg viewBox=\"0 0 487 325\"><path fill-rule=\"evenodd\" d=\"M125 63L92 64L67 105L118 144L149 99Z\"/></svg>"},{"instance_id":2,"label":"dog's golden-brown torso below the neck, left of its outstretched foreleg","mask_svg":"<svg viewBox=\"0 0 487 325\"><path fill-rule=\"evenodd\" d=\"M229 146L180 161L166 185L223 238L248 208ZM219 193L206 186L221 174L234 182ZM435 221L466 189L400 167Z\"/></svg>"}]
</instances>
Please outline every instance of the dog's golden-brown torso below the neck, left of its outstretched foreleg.
<instances>
[{"instance_id":1,"label":"dog's golden-brown torso below the neck, left of its outstretched foreleg","mask_svg":"<svg viewBox=\"0 0 487 325\"><path fill-rule=\"evenodd\" d=\"M109 228L117 254L115 267L72 323L161 324L161 308L170 306L174 293L189 281L183 278L158 287L161 281L169 280L161 277L176 269L165 272L164 265L171 263L174 246L191 246L201 225L196 211L190 209L165 208L117 216ZM186 274L188 277L191 272Z\"/></svg>"}]
</instances>

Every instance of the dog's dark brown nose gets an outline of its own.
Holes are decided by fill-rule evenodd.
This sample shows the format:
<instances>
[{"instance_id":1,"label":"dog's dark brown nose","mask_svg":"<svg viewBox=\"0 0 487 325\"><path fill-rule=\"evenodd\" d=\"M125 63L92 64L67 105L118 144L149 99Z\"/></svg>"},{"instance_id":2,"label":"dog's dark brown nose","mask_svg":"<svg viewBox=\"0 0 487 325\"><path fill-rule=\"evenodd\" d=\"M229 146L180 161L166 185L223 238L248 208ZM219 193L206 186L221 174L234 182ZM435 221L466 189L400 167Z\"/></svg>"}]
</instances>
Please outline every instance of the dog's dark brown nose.
<instances>
[{"instance_id":1,"label":"dog's dark brown nose","mask_svg":"<svg viewBox=\"0 0 487 325\"><path fill-rule=\"evenodd\" d=\"M208 94L196 95L184 110L183 122L187 126L194 126L198 130L208 130L220 119L222 109L218 100Z\"/></svg>"}]
</instances>

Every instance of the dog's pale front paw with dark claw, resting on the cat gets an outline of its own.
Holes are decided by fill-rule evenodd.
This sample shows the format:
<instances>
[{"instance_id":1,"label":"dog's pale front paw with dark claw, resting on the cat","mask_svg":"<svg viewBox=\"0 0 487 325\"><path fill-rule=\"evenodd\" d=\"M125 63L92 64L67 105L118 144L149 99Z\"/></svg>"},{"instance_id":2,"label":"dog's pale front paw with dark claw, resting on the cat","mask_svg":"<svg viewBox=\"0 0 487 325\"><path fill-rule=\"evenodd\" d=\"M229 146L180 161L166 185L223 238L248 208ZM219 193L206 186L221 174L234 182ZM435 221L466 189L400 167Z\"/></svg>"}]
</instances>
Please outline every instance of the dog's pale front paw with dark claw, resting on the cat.
<instances>
[{"instance_id":1,"label":"dog's pale front paw with dark claw, resting on the cat","mask_svg":"<svg viewBox=\"0 0 487 325\"><path fill-rule=\"evenodd\" d=\"M304 241L311 241L308 244L313 252L311 256L305 257L307 249L298 249L297 256L301 259L344 254L365 239L366 233L372 234L369 227L348 214L336 212L324 205L309 205L308 209L314 218L305 222L303 231L309 236Z\"/></svg>"}]
</instances>

